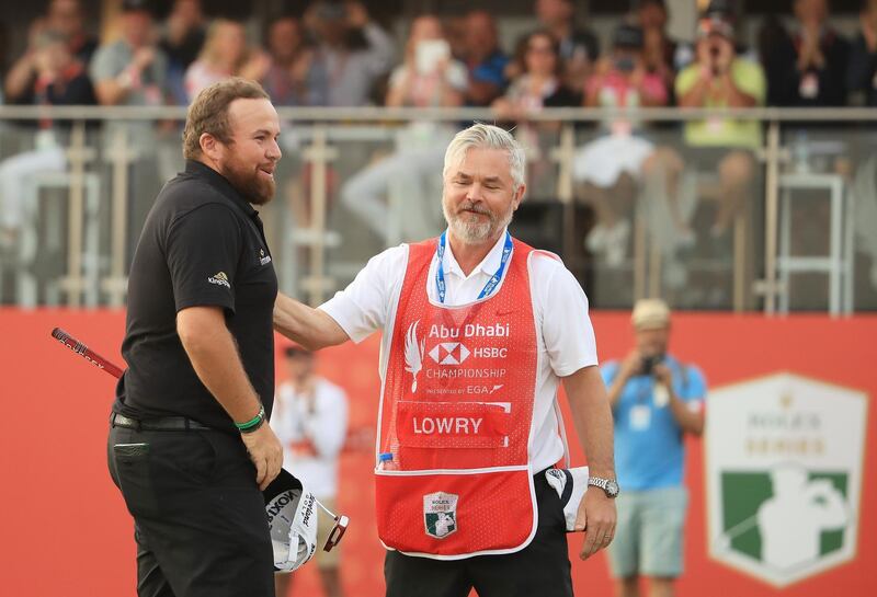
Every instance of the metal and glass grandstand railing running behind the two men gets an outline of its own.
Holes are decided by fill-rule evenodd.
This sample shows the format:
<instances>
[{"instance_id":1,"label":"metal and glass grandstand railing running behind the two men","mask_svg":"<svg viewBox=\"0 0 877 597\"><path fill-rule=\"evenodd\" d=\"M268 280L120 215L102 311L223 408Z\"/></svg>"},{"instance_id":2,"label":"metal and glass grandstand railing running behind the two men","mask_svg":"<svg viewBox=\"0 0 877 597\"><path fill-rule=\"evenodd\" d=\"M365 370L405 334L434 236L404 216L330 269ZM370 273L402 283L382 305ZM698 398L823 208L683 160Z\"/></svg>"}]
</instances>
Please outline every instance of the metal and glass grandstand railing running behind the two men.
<instances>
[{"instance_id":1,"label":"metal and glass grandstand railing running behind the two men","mask_svg":"<svg viewBox=\"0 0 877 597\"><path fill-rule=\"evenodd\" d=\"M447 130L460 123L496 120L491 111L480 108L277 112L284 123L284 171L265 219L282 287L311 303L343 287L384 246L415 240L413 230L441 227L440 218L411 223L431 206L437 211L440 191L430 186L434 181L424 177L423 188L414 190L428 202L417 205L409 200L410 187L389 181L386 229L380 231L363 226L351 209L350 198L343 198L345 183L386 156L424 147L441 153ZM21 230L7 234L0 245L0 301L122 306L148 206L163 181L182 167L184 118L181 107L0 106L0 184L14 171L4 168L10 158L38 149L36 123L56 125L56 142L66 157L60 171L32 172L12 187L22 194L12 203L19 202L15 209L23 215ZM683 159L692 156L683 123L760 123L751 197L739 206L729 239L716 241L709 234L709 211L716 209L711 199L721 195L716 170L690 177L686 168L685 183L691 184L679 193L691 195L686 208L694 240L687 245L677 242L672 228L656 223L681 199L664 197L664 203L650 205L638 192L631 207L617 214L630 229L622 259L603 260L582 248L593 216L582 206L577 150L605 134L601 125L617 119L645 123L646 138ZM442 134L432 143L420 139L411 150L405 137L412 123L444 123L444 128L438 127ZM877 175L875 125L877 111L867 108L544 110L515 129L533 167L528 199L513 226L525 240L558 252L597 308L625 308L639 297L664 296L680 308L770 314L875 310L877 241L863 232L868 222L877 226L869 220L877 218L877 183L869 183ZM441 157L429 159L437 176ZM640 188L648 184L639 181ZM7 188L0 186L0 194ZM9 205L0 196L0 206Z\"/></svg>"}]
</instances>

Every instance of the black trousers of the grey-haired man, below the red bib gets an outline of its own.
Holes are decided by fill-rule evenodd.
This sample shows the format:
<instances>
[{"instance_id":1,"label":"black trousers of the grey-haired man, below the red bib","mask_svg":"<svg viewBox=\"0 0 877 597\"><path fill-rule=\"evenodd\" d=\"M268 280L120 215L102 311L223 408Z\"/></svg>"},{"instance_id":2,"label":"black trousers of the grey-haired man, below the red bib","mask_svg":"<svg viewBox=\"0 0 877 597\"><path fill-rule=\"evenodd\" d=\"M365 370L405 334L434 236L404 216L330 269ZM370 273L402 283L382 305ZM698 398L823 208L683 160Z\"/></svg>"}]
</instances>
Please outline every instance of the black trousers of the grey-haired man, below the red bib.
<instances>
[{"instance_id":1,"label":"black trousers of the grey-haired man, below the red bib","mask_svg":"<svg viewBox=\"0 0 877 597\"><path fill-rule=\"evenodd\" d=\"M476 555L464 560L432 560L387 551L384 576L387 597L571 597L572 577L567 552L563 508L557 492L534 478L539 509L533 541L515 553ZM497 507L502 507L497 496Z\"/></svg>"}]
</instances>

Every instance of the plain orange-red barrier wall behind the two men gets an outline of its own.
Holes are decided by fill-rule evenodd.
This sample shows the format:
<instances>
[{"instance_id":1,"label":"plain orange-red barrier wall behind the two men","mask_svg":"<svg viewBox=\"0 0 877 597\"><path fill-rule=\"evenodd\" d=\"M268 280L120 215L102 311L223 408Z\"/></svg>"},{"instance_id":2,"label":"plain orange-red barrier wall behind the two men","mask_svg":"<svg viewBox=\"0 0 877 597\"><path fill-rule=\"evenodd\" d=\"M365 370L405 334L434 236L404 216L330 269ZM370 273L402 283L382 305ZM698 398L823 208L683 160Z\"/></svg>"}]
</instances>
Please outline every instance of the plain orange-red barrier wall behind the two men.
<instances>
[{"instance_id":1,"label":"plain orange-red barrier wall behind the two men","mask_svg":"<svg viewBox=\"0 0 877 597\"><path fill-rule=\"evenodd\" d=\"M627 315L595 313L602 359L623 356L631 343ZM106 417L114 380L49 337L59 325L98 353L121 363L122 312L0 310L0 593L18 597L124 597L135 595L130 518L105 467ZM877 395L877 318L832 321L823 317L679 314L672 349L697 363L710 388L788 370ZM351 424L365 435L375 421L377 337L328 349L320 370L351 397ZM285 375L278 366L278 379ZM806 581L777 589L707 555L704 469L699 441L690 441L686 573L679 595L877 594L877 505L874 504L877 413L867 410L865 482L856 556ZM568 428L572 428L568 425ZM372 436L373 437L373 436ZM352 519L344 539L343 583L350 595L383 595L383 550L373 519L367 448L342 457L340 509ZM581 455L576 454L576 463ZM870 471L870 472L868 472ZM581 538L570 540L571 558ZM601 554L573 560L577 594L611 595ZM318 595L307 566L293 594Z\"/></svg>"}]
</instances>

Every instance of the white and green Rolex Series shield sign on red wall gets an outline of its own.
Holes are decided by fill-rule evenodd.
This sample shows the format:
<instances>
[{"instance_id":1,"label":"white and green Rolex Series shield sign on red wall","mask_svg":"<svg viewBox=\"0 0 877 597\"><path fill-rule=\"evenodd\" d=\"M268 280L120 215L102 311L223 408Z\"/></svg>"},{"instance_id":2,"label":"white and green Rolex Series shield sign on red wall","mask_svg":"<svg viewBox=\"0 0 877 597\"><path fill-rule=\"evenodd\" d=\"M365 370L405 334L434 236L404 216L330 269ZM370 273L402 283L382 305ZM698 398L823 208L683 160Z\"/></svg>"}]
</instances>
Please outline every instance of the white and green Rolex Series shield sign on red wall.
<instances>
[{"instance_id":1,"label":"white and green Rolex Series shield sign on red wall","mask_svg":"<svg viewBox=\"0 0 877 597\"><path fill-rule=\"evenodd\" d=\"M710 393L710 555L776 587L856 555L866 395L791 374Z\"/></svg>"}]
</instances>

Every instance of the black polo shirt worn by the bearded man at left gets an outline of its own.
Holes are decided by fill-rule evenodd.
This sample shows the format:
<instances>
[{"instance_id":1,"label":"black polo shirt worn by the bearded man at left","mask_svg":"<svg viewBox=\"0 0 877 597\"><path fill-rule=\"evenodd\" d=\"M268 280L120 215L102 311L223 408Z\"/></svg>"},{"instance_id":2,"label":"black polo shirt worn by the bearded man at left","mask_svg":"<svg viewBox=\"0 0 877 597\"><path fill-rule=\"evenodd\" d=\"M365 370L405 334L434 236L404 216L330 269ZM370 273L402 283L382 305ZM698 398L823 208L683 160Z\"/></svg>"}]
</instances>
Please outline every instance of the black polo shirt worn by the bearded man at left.
<instances>
[{"instance_id":1,"label":"black polo shirt worn by the bearded man at left","mask_svg":"<svg viewBox=\"0 0 877 597\"><path fill-rule=\"evenodd\" d=\"M186 416L237 433L198 379L176 334L176 313L221 307L265 412L274 400L277 277L259 213L215 170L186 162L146 218L128 278L122 355L128 369L114 410L134 418Z\"/></svg>"}]
</instances>

